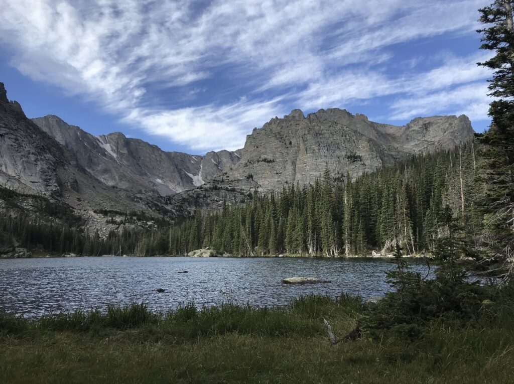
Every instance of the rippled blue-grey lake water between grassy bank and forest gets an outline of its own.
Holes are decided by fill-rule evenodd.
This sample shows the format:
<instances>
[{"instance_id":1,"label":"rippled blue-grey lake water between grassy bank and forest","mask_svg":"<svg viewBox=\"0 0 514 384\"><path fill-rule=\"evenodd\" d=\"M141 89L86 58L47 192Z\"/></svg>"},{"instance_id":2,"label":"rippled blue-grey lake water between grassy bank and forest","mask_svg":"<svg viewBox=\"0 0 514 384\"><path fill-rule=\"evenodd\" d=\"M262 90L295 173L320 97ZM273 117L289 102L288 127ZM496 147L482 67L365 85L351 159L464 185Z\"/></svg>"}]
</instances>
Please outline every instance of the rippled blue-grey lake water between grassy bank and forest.
<instances>
[{"instance_id":1,"label":"rippled blue-grey lake water between grassy bank and forest","mask_svg":"<svg viewBox=\"0 0 514 384\"><path fill-rule=\"evenodd\" d=\"M413 270L426 265L412 261ZM307 294L332 297L342 292L363 298L383 295L384 271L396 266L380 259L307 258L55 258L0 260L0 309L41 316L50 312L104 308L144 302L155 310L194 301L227 300L253 305L284 305ZM189 273L178 273L187 270ZM332 280L286 285L293 276ZM157 288L166 289L158 293Z\"/></svg>"}]
</instances>

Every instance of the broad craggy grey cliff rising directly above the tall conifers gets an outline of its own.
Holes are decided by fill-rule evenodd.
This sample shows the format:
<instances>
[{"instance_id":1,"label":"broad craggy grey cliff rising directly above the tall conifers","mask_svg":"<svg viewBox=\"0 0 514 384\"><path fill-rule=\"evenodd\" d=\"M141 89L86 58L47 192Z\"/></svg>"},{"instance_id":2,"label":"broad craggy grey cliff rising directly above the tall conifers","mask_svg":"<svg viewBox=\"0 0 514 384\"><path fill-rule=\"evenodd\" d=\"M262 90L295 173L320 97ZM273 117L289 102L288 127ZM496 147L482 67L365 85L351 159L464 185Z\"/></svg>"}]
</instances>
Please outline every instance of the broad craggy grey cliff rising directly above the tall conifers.
<instances>
[{"instance_id":1,"label":"broad craggy grey cliff rising directly above the tall conifers","mask_svg":"<svg viewBox=\"0 0 514 384\"><path fill-rule=\"evenodd\" d=\"M472 137L464 115L416 118L396 126L343 109L320 109L307 117L295 109L254 129L241 160L210 184L279 191L287 184L312 184L325 168L334 177L348 173L354 178L401 158L453 148Z\"/></svg>"}]
</instances>

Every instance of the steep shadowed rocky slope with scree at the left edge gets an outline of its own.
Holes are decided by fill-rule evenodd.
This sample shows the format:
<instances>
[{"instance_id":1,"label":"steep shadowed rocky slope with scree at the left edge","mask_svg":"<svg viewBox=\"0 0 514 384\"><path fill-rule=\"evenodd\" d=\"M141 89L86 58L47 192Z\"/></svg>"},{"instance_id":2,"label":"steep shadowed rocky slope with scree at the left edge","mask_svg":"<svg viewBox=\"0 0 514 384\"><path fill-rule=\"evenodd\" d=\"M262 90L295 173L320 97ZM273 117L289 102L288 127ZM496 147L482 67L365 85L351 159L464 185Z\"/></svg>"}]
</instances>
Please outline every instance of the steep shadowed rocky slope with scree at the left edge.
<instances>
[{"instance_id":1,"label":"steep shadowed rocky slope with scree at the left edge","mask_svg":"<svg viewBox=\"0 0 514 384\"><path fill-rule=\"evenodd\" d=\"M30 195L39 195L63 203L88 223L100 219L93 212L98 209L168 213L158 199L106 185L80 164L80 156L28 119L20 104L8 101L0 83L0 186L28 194L27 201ZM0 200L0 214L12 210L4 203ZM16 204L35 213L25 205Z\"/></svg>"}]
</instances>

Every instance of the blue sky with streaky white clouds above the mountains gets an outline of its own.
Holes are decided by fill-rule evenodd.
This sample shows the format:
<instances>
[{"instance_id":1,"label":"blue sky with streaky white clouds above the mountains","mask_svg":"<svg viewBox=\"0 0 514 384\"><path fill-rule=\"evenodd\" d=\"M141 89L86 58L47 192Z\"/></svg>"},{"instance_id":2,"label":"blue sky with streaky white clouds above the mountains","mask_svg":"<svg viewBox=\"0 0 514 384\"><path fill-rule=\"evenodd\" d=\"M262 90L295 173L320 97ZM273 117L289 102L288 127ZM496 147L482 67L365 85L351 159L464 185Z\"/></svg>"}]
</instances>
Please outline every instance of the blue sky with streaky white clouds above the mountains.
<instances>
[{"instance_id":1,"label":"blue sky with streaky white clouds above the mountains","mask_svg":"<svg viewBox=\"0 0 514 384\"><path fill-rule=\"evenodd\" d=\"M193 154L242 148L253 127L295 108L399 125L465 114L483 132L485 5L0 0L0 82L28 117Z\"/></svg>"}]
</instances>

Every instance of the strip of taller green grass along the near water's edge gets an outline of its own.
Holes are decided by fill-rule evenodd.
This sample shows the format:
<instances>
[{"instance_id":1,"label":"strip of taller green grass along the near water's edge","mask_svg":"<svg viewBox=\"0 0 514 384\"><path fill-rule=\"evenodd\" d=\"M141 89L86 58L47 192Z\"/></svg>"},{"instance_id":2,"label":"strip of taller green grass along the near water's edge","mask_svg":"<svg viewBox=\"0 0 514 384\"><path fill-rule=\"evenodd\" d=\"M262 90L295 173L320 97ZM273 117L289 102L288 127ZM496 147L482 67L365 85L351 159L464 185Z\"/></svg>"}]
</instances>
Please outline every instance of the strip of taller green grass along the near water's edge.
<instances>
[{"instance_id":1,"label":"strip of taller green grass along the near water's edge","mask_svg":"<svg viewBox=\"0 0 514 384\"><path fill-rule=\"evenodd\" d=\"M197 308L185 303L167 312L153 312L144 303L108 305L104 311L77 309L71 313L50 314L28 320L0 312L0 333L24 331L88 332L105 329L128 330L153 327L180 337L220 335L231 332L258 335L310 335L318 330L323 316L355 317L362 308L360 298L343 295L332 299L309 295L283 307L254 307L227 301L221 305Z\"/></svg>"}]
</instances>

